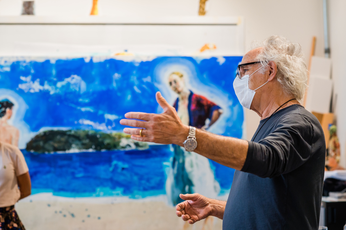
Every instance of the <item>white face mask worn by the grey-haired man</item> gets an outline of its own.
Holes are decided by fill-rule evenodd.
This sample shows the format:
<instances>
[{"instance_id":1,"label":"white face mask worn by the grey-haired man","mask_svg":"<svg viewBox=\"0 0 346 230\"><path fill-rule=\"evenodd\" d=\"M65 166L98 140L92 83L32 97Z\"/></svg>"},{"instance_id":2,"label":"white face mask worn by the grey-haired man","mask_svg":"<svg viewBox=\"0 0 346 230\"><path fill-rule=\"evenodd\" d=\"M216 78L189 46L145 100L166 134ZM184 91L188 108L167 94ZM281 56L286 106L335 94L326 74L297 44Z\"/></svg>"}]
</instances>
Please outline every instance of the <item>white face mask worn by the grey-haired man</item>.
<instances>
[{"instance_id":1,"label":"white face mask worn by the grey-haired man","mask_svg":"<svg viewBox=\"0 0 346 230\"><path fill-rule=\"evenodd\" d=\"M263 68L263 67L264 66L262 66L261 68ZM259 68L258 70L260 70L261 68ZM256 70L252 74L256 73L258 70ZM247 74L247 75L243 76L242 79L240 79L239 77L236 77L234 79L234 82L233 82L234 92L236 93L240 104L243 105L247 109L250 109L252 100L254 99L254 96L256 93L255 91L260 89L263 85L268 83L268 81L267 81L266 83L264 83L263 85L261 85L257 89L251 90L251 89L249 89L249 77L251 77L251 75L249 76Z\"/></svg>"}]
</instances>

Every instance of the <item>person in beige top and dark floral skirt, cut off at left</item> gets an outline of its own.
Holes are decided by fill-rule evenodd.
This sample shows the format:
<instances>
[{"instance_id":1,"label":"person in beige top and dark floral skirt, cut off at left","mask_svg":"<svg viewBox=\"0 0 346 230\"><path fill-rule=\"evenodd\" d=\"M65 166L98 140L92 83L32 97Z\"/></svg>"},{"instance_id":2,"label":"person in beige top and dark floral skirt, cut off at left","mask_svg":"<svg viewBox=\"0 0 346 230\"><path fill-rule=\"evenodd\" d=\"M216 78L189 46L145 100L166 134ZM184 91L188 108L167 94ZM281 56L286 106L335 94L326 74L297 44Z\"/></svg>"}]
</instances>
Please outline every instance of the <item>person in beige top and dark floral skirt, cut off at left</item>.
<instances>
[{"instance_id":1,"label":"person in beige top and dark floral skirt, cut off at left","mask_svg":"<svg viewBox=\"0 0 346 230\"><path fill-rule=\"evenodd\" d=\"M15 203L31 194L29 169L21 151L0 142L0 230L25 230Z\"/></svg>"}]
</instances>

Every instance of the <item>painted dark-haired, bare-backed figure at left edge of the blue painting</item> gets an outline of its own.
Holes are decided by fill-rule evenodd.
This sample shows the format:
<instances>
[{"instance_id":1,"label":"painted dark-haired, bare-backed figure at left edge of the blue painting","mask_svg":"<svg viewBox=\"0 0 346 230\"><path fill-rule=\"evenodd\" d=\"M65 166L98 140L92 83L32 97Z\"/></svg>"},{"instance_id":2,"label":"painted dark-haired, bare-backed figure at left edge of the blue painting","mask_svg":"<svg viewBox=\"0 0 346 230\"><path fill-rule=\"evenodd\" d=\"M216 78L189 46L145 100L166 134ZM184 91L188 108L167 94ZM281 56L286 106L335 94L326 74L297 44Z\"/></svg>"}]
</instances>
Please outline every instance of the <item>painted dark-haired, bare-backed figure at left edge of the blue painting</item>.
<instances>
[{"instance_id":1,"label":"painted dark-haired, bare-backed figure at left edge of the blue painting","mask_svg":"<svg viewBox=\"0 0 346 230\"><path fill-rule=\"evenodd\" d=\"M0 101L0 141L18 146L19 130L7 123L12 116L13 105L7 99Z\"/></svg>"}]
</instances>

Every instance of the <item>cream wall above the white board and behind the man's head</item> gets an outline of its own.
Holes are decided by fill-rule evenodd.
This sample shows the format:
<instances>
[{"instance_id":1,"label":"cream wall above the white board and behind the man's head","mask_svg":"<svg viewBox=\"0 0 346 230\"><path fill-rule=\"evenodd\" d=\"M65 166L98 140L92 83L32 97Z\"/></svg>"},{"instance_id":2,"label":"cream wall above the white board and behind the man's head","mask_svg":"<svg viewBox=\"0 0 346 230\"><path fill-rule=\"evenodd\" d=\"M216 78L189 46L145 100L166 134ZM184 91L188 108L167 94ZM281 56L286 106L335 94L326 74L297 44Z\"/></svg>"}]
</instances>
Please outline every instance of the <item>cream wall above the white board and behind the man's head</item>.
<instances>
[{"instance_id":1,"label":"cream wall above the white board and behind the man's head","mask_svg":"<svg viewBox=\"0 0 346 230\"><path fill-rule=\"evenodd\" d=\"M92 0L35 2L36 15L42 16L88 15L92 5ZM199 0L99 0L99 12L103 16L194 16L198 8ZM255 39L283 35L301 44L308 61L312 36L316 36L315 54L323 56L322 0L208 0L206 9L209 16L244 16L246 47ZM21 0L0 0L0 16L19 15L20 11ZM249 110L246 117L247 139L251 139L260 118Z\"/></svg>"}]
</instances>

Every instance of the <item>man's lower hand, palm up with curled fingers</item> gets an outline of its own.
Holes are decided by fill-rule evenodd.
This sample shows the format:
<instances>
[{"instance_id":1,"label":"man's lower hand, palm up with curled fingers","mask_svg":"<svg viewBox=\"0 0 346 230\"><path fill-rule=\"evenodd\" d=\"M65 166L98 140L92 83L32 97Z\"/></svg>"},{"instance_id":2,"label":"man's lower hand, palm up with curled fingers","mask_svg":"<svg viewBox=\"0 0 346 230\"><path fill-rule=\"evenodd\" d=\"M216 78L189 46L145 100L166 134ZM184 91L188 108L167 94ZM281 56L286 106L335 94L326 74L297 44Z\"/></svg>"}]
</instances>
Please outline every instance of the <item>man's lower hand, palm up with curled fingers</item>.
<instances>
[{"instance_id":1,"label":"man's lower hand, palm up with curled fingers","mask_svg":"<svg viewBox=\"0 0 346 230\"><path fill-rule=\"evenodd\" d=\"M181 217L183 221L193 224L210 216L213 212L210 199L198 193L180 194L184 202L176 205L176 215Z\"/></svg>"}]
</instances>

